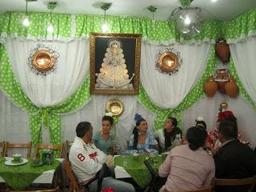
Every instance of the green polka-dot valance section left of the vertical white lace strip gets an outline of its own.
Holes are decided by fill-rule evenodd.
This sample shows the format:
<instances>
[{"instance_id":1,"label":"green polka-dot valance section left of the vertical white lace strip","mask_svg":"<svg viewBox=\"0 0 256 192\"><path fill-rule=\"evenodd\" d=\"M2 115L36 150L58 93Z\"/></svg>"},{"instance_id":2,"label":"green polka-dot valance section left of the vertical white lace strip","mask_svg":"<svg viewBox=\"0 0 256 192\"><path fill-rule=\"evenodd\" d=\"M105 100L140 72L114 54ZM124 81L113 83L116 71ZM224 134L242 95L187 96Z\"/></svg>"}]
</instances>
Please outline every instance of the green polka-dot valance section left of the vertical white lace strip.
<instances>
[{"instance_id":1,"label":"green polka-dot valance section left of the vertical white lace strip","mask_svg":"<svg viewBox=\"0 0 256 192\"><path fill-rule=\"evenodd\" d=\"M53 14L52 22L54 32L49 34L47 26L50 25L50 13L29 13L30 26L23 26L22 20L25 18L25 13L6 13L0 15L0 40L6 42L6 38L18 38L23 40L34 41L61 41L68 42L74 37L72 33L71 14Z\"/></svg>"}]
</instances>

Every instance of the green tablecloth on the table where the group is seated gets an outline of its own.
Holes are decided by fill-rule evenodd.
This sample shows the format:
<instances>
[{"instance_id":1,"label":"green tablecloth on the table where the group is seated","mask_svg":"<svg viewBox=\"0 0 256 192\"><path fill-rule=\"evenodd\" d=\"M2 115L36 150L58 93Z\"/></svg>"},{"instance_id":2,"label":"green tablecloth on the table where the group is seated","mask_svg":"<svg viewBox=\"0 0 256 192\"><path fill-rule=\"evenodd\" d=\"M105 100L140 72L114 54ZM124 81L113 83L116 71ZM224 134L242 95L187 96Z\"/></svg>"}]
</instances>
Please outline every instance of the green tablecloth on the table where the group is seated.
<instances>
[{"instance_id":1,"label":"green tablecloth on the table where the group is seated","mask_svg":"<svg viewBox=\"0 0 256 192\"><path fill-rule=\"evenodd\" d=\"M158 172L158 167L164 162L164 159L166 156L162 157L161 155L153 158L149 157L147 154L138 155L136 157L132 155L121 155L116 158L114 158L114 164L115 166L122 166L128 174L134 179L135 182L138 183L139 186L142 188L145 188L151 179L150 171L146 168L144 164L144 160L146 158L149 158L150 165L153 167L155 173ZM127 166L123 165L123 161L126 159Z\"/></svg>"}]
</instances>

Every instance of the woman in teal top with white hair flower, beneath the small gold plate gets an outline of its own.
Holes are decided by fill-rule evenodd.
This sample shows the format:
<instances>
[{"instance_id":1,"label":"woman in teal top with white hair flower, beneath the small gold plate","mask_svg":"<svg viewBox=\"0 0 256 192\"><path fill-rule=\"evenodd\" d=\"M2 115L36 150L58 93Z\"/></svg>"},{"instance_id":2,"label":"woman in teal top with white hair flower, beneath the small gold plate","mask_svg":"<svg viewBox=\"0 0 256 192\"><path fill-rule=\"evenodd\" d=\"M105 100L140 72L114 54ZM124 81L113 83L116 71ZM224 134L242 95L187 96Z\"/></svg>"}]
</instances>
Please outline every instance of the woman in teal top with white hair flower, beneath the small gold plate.
<instances>
[{"instance_id":1,"label":"woman in teal top with white hair flower, beneath the small gold plate","mask_svg":"<svg viewBox=\"0 0 256 192\"><path fill-rule=\"evenodd\" d=\"M102 150L105 154L116 153L116 142L114 140L114 134L111 134L110 130L114 124L114 119L110 116L103 116L102 118L102 130L94 134L94 145L99 150Z\"/></svg>"}]
</instances>

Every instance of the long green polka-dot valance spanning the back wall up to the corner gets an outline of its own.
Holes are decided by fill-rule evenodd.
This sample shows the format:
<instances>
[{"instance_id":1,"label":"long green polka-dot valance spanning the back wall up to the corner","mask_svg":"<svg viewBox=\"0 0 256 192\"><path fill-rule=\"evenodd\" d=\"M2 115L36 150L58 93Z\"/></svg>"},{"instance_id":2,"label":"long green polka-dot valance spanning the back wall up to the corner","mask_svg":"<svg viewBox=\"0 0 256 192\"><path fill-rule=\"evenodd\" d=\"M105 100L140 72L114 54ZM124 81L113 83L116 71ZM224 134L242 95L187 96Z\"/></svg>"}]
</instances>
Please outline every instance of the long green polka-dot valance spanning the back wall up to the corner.
<instances>
[{"instance_id":1,"label":"long green polka-dot valance spanning the back wall up to the corner","mask_svg":"<svg viewBox=\"0 0 256 192\"><path fill-rule=\"evenodd\" d=\"M74 38L89 38L90 32L102 32L103 16L53 14L54 32L49 34L49 13L29 13L30 26L22 25L25 13L8 12L0 15L1 41L6 38L30 39L34 41L69 42ZM149 18L128 18L106 16L109 31L112 33L142 34L142 39L154 44L169 45L174 42L214 43L222 36L221 22L206 21L202 32L191 39L182 38L174 29L172 21L152 21Z\"/></svg>"}]
</instances>

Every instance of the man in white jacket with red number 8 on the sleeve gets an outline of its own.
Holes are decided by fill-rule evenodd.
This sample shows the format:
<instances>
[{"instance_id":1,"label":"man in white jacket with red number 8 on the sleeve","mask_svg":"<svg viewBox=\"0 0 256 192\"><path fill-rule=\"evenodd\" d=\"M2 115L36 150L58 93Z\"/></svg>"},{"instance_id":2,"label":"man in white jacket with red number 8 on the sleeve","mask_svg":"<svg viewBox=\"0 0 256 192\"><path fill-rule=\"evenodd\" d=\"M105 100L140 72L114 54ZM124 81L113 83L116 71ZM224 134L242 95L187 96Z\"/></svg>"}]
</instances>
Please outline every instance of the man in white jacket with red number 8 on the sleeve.
<instances>
[{"instance_id":1,"label":"man in white jacket with red number 8 on the sleeve","mask_svg":"<svg viewBox=\"0 0 256 192\"><path fill-rule=\"evenodd\" d=\"M106 162L107 156L101 150L98 150L91 138L93 127L90 122L79 122L76 128L77 137L70 148L70 162L74 174L78 177L78 181L82 185L89 185L90 192L97 190L98 179L96 174L102 168L102 164ZM127 191L134 192L134 186L130 183L118 181L114 178L104 178L102 189L111 187L115 192Z\"/></svg>"}]
</instances>

